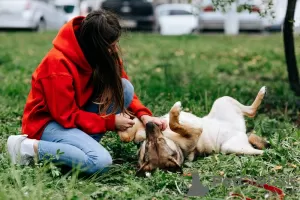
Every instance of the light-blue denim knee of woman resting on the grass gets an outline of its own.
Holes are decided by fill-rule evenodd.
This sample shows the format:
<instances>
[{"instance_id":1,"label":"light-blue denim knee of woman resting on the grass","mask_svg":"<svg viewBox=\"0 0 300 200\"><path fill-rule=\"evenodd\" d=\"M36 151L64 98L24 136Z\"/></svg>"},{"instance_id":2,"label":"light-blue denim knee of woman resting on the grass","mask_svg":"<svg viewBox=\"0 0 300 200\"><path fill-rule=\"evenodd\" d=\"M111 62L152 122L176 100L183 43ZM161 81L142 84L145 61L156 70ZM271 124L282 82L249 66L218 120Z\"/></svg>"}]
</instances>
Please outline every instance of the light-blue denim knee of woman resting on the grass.
<instances>
[{"instance_id":1,"label":"light-blue denim knee of woman resting on the grass","mask_svg":"<svg viewBox=\"0 0 300 200\"><path fill-rule=\"evenodd\" d=\"M86 172L89 174L105 173L113 163L108 151L101 151L101 154L89 156L88 160L90 164Z\"/></svg>"}]
</instances>

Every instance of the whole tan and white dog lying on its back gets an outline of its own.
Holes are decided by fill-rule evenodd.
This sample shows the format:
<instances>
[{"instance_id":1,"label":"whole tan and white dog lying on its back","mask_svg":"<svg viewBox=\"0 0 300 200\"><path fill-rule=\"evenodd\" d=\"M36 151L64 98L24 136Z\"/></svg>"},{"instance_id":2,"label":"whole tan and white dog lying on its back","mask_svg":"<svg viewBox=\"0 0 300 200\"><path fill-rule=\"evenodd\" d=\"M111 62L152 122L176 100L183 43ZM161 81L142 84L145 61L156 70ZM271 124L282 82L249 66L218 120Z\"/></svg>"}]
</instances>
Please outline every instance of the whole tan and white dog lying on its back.
<instances>
[{"instance_id":1,"label":"whole tan and white dog lying on its back","mask_svg":"<svg viewBox=\"0 0 300 200\"><path fill-rule=\"evenodd\" d=\"M168 142L164 143L165 146L172 146L173 144L171 143L173 142L175 146L173 145L171 149L177 151L176 146L179 147L183 157L189 161L193 161L197 155L209 155L212 153L263 154L263 149L268 146L268 143L255 134L247 136L244 116L254 117L256 115L256 111L265 93L266 87L262 87L250 106L243 105L232 97L221 97L214 102L210 113L202 118L182 111L181 103L176 102L170 112L161 117L167 120L169 127L162 132L162 136L156 134L154 139L152 137L150 151L153 152L154 149L156 149L155 151L159 151L158 149L161 147L154 148L157 145L161 145L157 141L167 140ZM143 142L139 150L140 167L142 167L146 161L143 163L141 159L147 155L143 157L141 154L147 154L146 144L150 144L150 132L153 134L153 132L160 130L157 128L147 129L147 127L145 129L141 121L137 118L134 120L135 125L132 128L127 129L125 132L118 132L118 134L123 142ZM152 127L152 125L149 125L149 127ZM149 151L149 147L147 148ZM166 151L167 153L165 152L164 154L174 154L173 150ZM158 152L157 155L160 155L160 153ZM176 155L180 156L180 153ZM172 155L170 156L172 157ZM148 163L152 162L149 156L146 160ZM176 163L176 166L182 164L182 162L178 162L178 159L175 160L177 160L177 163L174 160L173 163ZM179 160L182 159L179 158ZM144 171L151 171L153 168L162 168L161 165L148 167L149 170ZM144 168L148 169L145 166Z\"/></svg>"}]
</instances>

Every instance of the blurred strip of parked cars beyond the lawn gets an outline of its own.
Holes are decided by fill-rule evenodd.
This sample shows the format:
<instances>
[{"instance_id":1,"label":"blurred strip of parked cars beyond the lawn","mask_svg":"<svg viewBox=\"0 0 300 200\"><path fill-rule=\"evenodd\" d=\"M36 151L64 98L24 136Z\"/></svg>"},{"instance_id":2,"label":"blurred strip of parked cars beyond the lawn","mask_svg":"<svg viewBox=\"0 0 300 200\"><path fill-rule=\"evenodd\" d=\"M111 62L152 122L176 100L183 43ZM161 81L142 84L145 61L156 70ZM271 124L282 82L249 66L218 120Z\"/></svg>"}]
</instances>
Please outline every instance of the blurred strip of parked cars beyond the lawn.
<instances>
[{"instance_id":1,"label":"blurred strip of parked cars beyond the lawn","mask_svg":"<svg viewBox=\"0 0 300 200\"><path fill-rule=\"evenodd\" d=\"M243 9L245 3L248 9ZM240 0L225 12L215 9L211 0L0 0L0 29L58 30L75 16L108 9L118 14L127 30L161 35L280 32L287 0L273 3L273 15L261 17L259 13L266 9L263 0ZM294 26L299 33L299 4Z\"/></svg>"}]
</instances>

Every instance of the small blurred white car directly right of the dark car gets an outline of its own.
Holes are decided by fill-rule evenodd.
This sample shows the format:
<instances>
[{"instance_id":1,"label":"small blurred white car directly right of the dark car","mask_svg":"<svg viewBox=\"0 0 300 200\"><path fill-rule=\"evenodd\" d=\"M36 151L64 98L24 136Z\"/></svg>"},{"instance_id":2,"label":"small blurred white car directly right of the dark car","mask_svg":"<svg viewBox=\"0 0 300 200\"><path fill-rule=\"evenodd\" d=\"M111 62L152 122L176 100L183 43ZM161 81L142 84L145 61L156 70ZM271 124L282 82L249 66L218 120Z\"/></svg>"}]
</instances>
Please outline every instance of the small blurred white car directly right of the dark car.
<instances>
[{"instance_id":1,"label":"small blurred white car directly right of the dark car","mask_svg":"<svg viewBox=\"0 0 300 200\"><path fill-rule=\"evenodd\" d=\"M191 4L162 4L155 8L156 31L184 35L198 31L199 9Z\"/></svg>"}]
</instances>

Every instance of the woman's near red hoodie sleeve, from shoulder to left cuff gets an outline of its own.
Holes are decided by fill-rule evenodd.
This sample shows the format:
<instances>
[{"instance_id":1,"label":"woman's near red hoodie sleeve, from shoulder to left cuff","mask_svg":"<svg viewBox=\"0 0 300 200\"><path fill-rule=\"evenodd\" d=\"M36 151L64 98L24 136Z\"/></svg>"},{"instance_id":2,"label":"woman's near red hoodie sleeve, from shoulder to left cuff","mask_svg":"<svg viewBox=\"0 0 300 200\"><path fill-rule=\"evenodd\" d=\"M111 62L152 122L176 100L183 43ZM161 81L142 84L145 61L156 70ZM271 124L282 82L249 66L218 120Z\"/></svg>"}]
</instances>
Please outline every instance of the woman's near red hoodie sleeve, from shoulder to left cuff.
<instances>
[{"instance_id":1,"label":"woman's near red hoodie sleeve, from shoulder to left cuff","mask_svg":"<svg viewBox=\"0 0 300 200\"><path fill-rule=\"evenodd\" d=\"M79 128L88 134L115 129L115 115L104 118L78 108L71 76L54 75L40 79L40 84L51 116L64 128Z\"/></svg>"}]
</instances>

